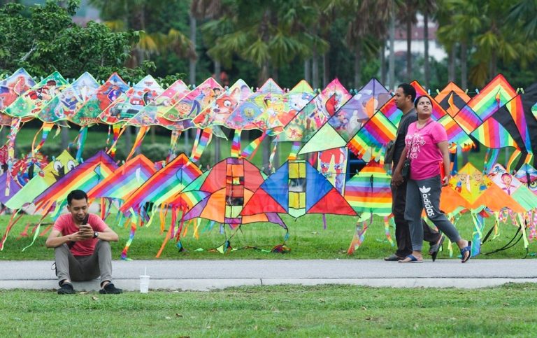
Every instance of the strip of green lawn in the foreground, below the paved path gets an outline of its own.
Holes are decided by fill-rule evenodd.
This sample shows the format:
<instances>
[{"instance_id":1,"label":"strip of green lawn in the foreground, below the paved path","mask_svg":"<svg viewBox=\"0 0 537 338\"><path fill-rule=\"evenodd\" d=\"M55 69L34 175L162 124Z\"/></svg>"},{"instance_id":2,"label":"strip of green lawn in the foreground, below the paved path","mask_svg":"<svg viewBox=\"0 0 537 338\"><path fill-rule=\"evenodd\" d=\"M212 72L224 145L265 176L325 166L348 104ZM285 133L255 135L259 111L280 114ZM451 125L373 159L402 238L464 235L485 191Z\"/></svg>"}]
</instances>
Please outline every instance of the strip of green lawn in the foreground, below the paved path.
<instances>
[{"instance_id":1,"label":"strip of green lawn in the foreground, below the paved path","mask_svg":"<svg viewBox=\"0 0 537 338\"><path fill-rule=\"evenodd\" d=\"M5 337L534 337L537 286L262 286L59 296L0 291Z\"/></svg>"}]
</instances>

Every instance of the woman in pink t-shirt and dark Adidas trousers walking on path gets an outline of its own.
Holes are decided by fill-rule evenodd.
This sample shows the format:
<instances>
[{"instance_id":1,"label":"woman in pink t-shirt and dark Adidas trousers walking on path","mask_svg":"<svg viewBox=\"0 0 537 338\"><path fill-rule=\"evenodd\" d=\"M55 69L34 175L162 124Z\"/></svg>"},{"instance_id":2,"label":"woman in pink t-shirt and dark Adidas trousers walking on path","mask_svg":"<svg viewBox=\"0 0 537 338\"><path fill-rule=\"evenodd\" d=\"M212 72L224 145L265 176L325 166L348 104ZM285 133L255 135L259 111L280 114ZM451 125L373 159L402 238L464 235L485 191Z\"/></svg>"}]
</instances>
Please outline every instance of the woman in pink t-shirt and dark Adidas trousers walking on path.
<instances>
[{"instance_id":1,"label":"woman in pink t-shirt and dark Adidas trousers walking on path","mask_svg":"<svg viewBox=\"0 0 537 338\"><path fill-rule=\"evenodd\" d=\"M440 194L442 187L450 181L450 154L447 149L447 134L439 122L432 120L431 99L427 96L418 97L415 101L417 121L408 127L406 146L401 159L394 170L395 185L403 182L401 169L408 157L410 159L410 177L406 190L405 219L410 225L413 252L401 263L423 262L423 228L422 211L452 242L457 243L461 250L461 262L471 256L471 242L462 239L454 225L440 211ZM445 176L441 178L438 165L443 161Z\"/></svg>"}]
</instances>

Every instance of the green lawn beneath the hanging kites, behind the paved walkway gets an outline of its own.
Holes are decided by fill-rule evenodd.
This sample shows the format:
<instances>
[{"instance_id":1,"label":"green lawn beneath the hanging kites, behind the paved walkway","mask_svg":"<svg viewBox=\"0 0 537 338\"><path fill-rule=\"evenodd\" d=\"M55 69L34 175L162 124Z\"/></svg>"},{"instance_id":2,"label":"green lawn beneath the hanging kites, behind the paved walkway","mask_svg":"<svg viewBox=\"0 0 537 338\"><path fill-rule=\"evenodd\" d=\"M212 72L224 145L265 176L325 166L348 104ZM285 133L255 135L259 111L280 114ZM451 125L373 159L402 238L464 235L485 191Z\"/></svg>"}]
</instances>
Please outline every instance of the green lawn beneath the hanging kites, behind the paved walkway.
<instances>
[{"instance_id":1,"label":"green lawn beneath the hanging kites, behind the paved walkway","mask_svg":"<svg viewBox=\"0 0 537 338\"><path fill-rule=\"evenodd\" d=\"M220 246L225 240L225 234L220 233L219 225L215 225L212 230L204 230L208 222L201 221L199 227L199 239L194 234L194 226L189 225L186 236L182 239L182 245L186 249L179 252L175 240L170 240L166 244L162 253L162 259L378 259L389 255L394 248L387 241L384 232L384 223L382 218L375 217L373 223L366 232L364 243L355 251L353 255L348 255L350 241L355 233L356 217L349 216L327 216L327 229L323 230L322 216L306 215L294 218L284 215L282 217L289 227L289 239L286 245L291 248L289 253L277 254L268 251L277 244L282 244L285 230L278 225L268 223L257 223L244 225L241 230L236 232L229 239L231 247L238 250L230 253L221 254L210 249ZM115 217L110 216L107 219L113 229L120 234L120 241L113 243L113 258L120 258L120 253L124 248L127 239L129 239L129 229L118 227L114 221ZM22 248L31 243L30 237L20 237L24 227L29 222L37 222L37 216L24 216L13 230L5 243L3 251L0 251L0 260L53 260L54 252L46 249L45 237L38 237L36 243L21 252ZM3 234L5 225L8 223L8 216L0 216L0 232ZM156 222L158 223L158 222ZM169 223L166 225L166 229ZM486 229L492 226L487 223ZM473 223L468 215L461 217L457 227L462 237L471 238ZM31 232L32 226L29 227L28 233ZM41 232L44 227L41 228ZM494 248L500 248L513 238L516 228L513 225L501 224L499 227L499 237L489 239L483 246L482 252L492 251ZM225 232L228 238L232 234L228 227ZM394 239L394 229L390 228L390 233ZM159 224L153 224L149 227L138 229L129 248L129 258L132 259L151 259L159 251L167 232L160 234ZM427 248L427 245L425 246ZM199 249L203 250L199 250ZM453 259L457 256L456 246L453 246ZM529 258L535 258L534 253L537 251L536 242L531 242L529 251L532 255ZM522 241L513 248L506 251L495 253L494 255L480 255L478 258L523 258L526 254ZM447 241L444 243L444 251L438 255L439 259L449 258L447 251Z\"/></svg>"}]
</instances>

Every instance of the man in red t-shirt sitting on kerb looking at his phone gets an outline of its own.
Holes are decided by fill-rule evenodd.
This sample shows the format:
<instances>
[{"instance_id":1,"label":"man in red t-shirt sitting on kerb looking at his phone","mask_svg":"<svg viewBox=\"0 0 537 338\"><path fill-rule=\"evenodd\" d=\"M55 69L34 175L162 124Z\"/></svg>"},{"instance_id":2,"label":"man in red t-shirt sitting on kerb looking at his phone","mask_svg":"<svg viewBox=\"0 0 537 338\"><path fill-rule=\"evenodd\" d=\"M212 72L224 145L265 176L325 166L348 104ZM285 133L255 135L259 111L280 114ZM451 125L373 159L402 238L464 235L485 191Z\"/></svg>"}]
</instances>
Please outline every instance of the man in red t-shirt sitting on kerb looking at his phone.
<instances>
[{"instance_id":1,"label":"man in red t-shirt sitting on kerb looking at his phone","mask_svg":"<svg viewBox=\"0 0 537 338\"><path fill-rule=\"evenodd\" d=\"M88 213L87 208L85 192L69 192L69 213L59 216L45 243L47 248L55 248L56 276L60 286L58 293L75 293L71 281L90 281L97 276L101 276L99 293L122 293L112 283L112 250L109 243L117 241L119 237L99 216Z\"/></svg>"}]
</instances>

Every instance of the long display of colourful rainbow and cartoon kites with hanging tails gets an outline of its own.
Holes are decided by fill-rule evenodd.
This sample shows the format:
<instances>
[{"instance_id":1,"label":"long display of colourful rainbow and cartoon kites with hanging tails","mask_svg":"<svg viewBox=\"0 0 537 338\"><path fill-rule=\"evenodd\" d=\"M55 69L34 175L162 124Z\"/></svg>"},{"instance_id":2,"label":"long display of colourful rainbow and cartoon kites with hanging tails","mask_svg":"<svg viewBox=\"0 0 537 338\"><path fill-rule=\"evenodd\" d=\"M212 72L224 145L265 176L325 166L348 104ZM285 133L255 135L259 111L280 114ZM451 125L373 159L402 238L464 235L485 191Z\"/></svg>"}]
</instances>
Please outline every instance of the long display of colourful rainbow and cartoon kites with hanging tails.
<instances>
[{"instance_id":1,"label":"long display of colourful rainbow and cartoon kites with hanging tails","mask_svg":"<svg viewBox=\"0 0 537 338\"><path fill-rule=\"evenodd\" d=\"M411 85L418 95L429 95L417 81ZM527 248L537 237L537 171L532 166L537 133L530 132L537 130L537 85L515 90L499 75L473 98L449 83L431 99L432 116L447 130L453 152L471 149L476 140L489 148L484 170L471 164L460 170L454 167L456 176L444 188L442 209L453 217L470 212L475 239L483 237L485 219L492 219L494 237L499 237L499 223L510 221ZM33 244L45 217L57 217L73 189L99 200L103 218L117 209L115 223L130 225L123 258L139 227L160 223L164 234L170 214L157 256L169 239L181 248L180 239L189 229L196 238L215 225L226 238L226 230L232 237L248 223L270 222L287 230L282 213L294 218L321 213L325 227L327 213L369 215L369 220L362 217L357 223L349 253L364 240L372 216L383 216L387 241L393 245L390 176L382 155L395 138L402 112L376 79L355 94L337 79L324 90L313 90L305 80L282 90L272 79L255 91L243 80L224 88L213 78L193 89L178 80L164 90L151 76L132 87L117 73L101 85L90 73L69 83L55 72L36 83L19 69L0 81L0 114L1 124L10 128L7 143L0 148L0 203L13 210L0 250L24 206L34 204L41 214L31 232ZM34 139L31 153L16 159L15 138L23 123L32 119L43 121L41 142L34 146ZM67 122L80 126L78 152L72 157L64 150L49 161L39 149L52 128L69 127ZM106 150L84 160L87 130L96 124L109 125L113 139L107 141ZM115 144L127 126L139 129L120 165L114 159ZM134 156L152 126L172 131L168 157L155 163L143 154ZM213 136L226 137L222 127L235 131L230 157L202 172L196 162ZM197 129L192 152L177 155L180 134L190 128ZM252 129L262 135L242 147L241 132ZM292 142L288 160L269 176L250 162L267 136L275 144L271 157L280 142ZM496 164L505 147L514 148L506 168ZM348 150L368 164L346 181ZM50 226L41 235L48 230ZM473 252L478 253L480 241L473 243ZM229 241L217 249L229 251Z\"/></svg>"}]
</instances>

